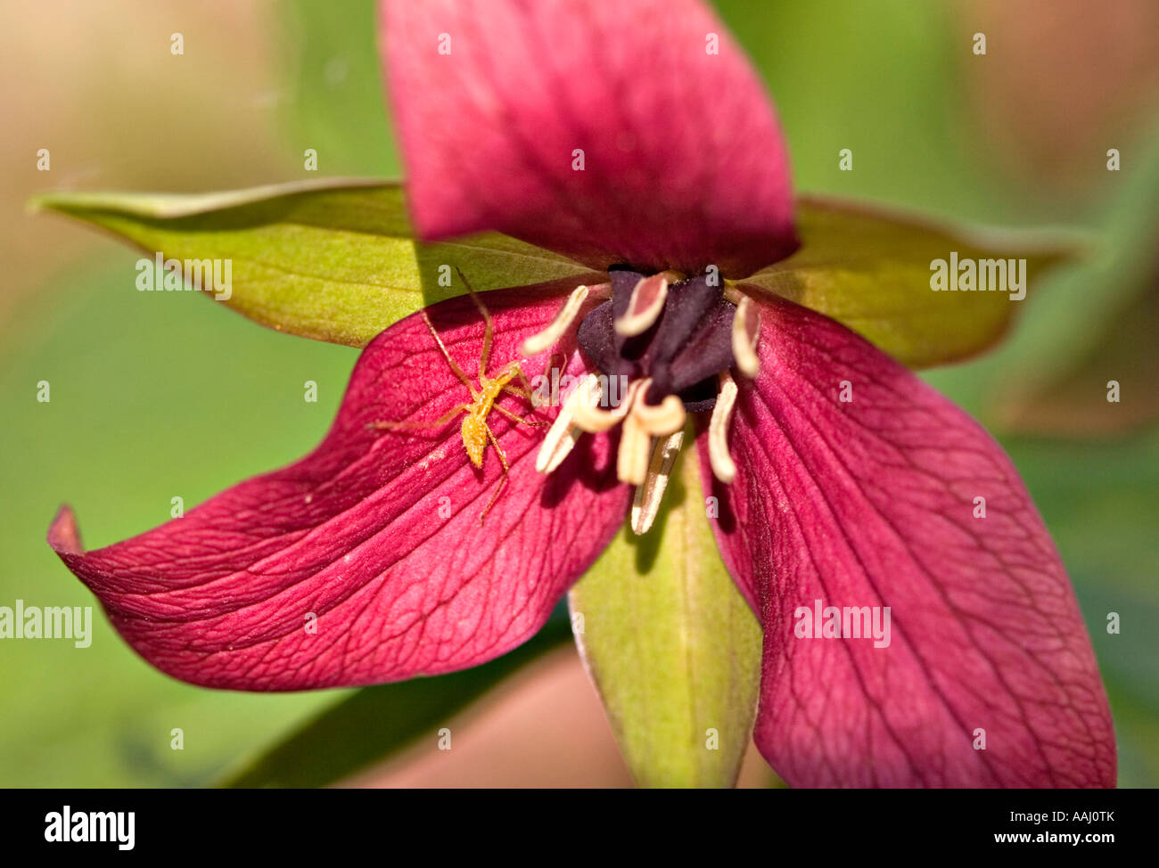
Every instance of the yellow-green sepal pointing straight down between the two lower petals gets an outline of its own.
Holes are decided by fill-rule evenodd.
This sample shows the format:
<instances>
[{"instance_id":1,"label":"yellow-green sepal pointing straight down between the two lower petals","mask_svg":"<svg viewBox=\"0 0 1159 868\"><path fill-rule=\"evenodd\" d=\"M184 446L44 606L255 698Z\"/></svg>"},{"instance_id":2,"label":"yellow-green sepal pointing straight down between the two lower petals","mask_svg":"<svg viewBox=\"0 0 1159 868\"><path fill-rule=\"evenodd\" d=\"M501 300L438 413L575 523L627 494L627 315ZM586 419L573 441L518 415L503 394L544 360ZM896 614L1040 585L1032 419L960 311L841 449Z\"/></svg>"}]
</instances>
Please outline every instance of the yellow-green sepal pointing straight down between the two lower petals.
<instances>
[{"instance_id":1,"label":"yellow-green sepal pointing straight down between the two lower petals","mask_svg":"<svg viewBox=\"0 0 1159 868\"><path fill-rule=\"evenodd\" d=\"M625 528L571 591L573 627L636 782L731 787L752 732L760 627L721 562L694 448L664 501L648 534Z\"/></svg>"}]
</instances>

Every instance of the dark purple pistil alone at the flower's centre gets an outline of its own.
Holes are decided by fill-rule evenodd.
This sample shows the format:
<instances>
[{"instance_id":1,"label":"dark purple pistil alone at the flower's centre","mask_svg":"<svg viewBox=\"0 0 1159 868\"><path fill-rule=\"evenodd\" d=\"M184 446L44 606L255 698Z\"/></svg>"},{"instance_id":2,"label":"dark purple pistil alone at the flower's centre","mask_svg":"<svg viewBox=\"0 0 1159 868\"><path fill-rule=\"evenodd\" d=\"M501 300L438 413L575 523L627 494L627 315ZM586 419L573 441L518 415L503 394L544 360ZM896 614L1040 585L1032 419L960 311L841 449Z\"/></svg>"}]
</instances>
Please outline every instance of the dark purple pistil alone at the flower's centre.
<instances>
[{"instance_id":1,"label":"dark purple pistil alone at the flower's centre","mask_svg":"<svg viewBox=\"0 0 1159 868\"><path fill-rule=\"evenodd\" d=\"M650 377L644 395L658 404L678 395L688 411L710 410L716 403L716 374L732 367L732 316L736 305L726 301L720 286L701 275L668 287L664 308L642 335L622 337L614 322L643 275L626 269L608 272L612 300L580 323L580 349L596 369L610 377L639 380ZM719 280L719 278L716 278Z\"/></svg>"}]
</instances>

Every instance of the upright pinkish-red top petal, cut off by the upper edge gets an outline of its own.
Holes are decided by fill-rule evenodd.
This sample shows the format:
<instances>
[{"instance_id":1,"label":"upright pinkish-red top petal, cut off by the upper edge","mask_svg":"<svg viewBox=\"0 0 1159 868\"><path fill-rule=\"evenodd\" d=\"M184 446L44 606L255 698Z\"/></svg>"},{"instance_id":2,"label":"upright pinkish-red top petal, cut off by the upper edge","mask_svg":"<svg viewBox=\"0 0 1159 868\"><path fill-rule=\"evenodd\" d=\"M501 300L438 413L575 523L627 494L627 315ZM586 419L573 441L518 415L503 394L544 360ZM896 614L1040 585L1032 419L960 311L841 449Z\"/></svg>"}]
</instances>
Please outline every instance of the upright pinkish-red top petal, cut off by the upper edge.
<instances>
[{"instance_id":1,"label":"upright pinkish-red top petal, cut off by the upper edge","mask_svg":"<svg viewBox=\"0 0 1159 868\"><path fill-rule=\"evenodd\" d=\"M382 21L425 235L726 277L795 248L772 105L699 0L400 0Z\"/></svg>"}]
</instances>

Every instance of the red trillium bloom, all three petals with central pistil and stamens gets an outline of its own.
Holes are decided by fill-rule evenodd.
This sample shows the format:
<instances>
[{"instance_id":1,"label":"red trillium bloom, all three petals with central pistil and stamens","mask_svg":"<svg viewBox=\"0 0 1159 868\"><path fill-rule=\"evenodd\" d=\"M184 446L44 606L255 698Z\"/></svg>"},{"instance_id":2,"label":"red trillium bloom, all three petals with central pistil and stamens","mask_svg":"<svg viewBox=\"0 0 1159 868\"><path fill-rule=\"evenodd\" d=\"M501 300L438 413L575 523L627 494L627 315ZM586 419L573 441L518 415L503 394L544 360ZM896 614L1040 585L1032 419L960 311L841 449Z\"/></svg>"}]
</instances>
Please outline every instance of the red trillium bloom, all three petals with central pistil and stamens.
<instances>
[{"instance_id":1,"label":"red trillium bloom, all three petals with central pistil and stamens","mask_svg":"<svg viewBox=\"0 0 1159 868\"><path fill-rule=\"evenodd\" d=\"M659 532L694 461L763 627L755 739L788 783L1113 786L1089 639L1009 459L786 285L810 241L785 143L712 12L432 0L387 3L382 28L418 233L502 232L580 273L398 321L314 452L183 518L85 552L63 509L49 540L121 635L224 688L473 666L532 636L626 520ZM553 371L577 387L532 400L522 380ZM851 610L888 639L848 635Z\"/></svg>"}]
</instances>

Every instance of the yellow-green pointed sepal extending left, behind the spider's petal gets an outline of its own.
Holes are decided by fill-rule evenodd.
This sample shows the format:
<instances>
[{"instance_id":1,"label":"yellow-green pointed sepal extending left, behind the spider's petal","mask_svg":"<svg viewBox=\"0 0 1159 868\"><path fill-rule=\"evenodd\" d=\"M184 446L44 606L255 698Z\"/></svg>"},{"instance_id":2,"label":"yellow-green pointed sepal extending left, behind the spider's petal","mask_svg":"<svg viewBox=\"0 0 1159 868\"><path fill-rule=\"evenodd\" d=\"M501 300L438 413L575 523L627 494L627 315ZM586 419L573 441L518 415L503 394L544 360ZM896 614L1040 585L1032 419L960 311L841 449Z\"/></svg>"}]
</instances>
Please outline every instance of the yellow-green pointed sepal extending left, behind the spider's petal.
<instances>
[{"instance_id":1,"label":"yellow-green pointed sepal extending left, behind the spider's petal","mask_svg":"<svg viewBox=\"0 0 1159 868\"><path fill-rule=\"evenodd\" d=\"M563 256L484 233L420 243L399 184L320 180L204 195L53 192L37 209L71 214L152 260L228 260L226 304L263 326L363 347L420 307L466 292L588 273ZM126 283L136 279L126 276ZM446 279L443 283L447 283ZM209 298L213 298L206 292Z\"/></svg>"}]
</instances>

